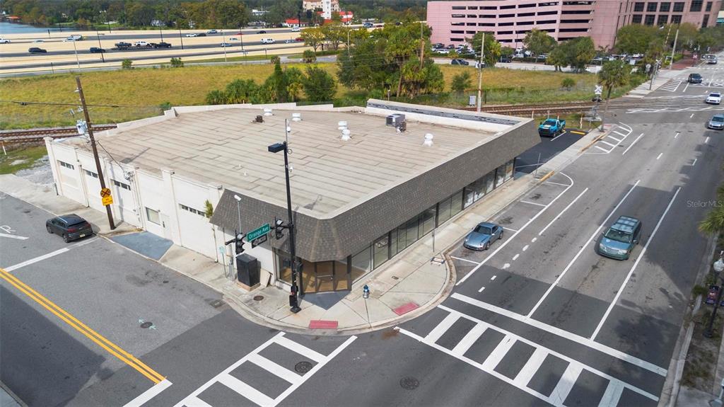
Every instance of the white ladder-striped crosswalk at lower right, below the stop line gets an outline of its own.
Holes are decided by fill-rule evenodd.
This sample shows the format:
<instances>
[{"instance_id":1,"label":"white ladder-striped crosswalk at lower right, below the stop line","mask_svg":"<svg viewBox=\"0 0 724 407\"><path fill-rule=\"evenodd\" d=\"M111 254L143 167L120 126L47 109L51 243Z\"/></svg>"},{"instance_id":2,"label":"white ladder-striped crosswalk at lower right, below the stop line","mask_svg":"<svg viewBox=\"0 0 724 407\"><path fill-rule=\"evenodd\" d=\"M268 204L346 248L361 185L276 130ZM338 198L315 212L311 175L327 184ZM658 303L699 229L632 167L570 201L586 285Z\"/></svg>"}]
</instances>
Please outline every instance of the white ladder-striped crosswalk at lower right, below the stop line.
<instances>
[{"instance_id":1,"label":"white ladder-striped crosswalk at lower right, below the stop line","mask_svg":"<svg viewBox=\"0 0 724 407\"><path fill-rule=\"evenodd\" d=\"M480 319L463 314L460 311L450 309L447 306L439 305L437 308L442 311L446 311L448 314L445 316L445 319L442 319L442 321L439 322L439 324L437 324L427 335L421 336L399 327L396 329L403 335L412 337L413 339L429 345L438 351L442 351L450 356L458 358L460 361L464 361L487 374L497 377L497 379L500 379L509 385L513 385L546 403L550 403L552 406L565 407L572 406L576 403L576 400L571 400L568 401L568 404L566 404L566 400L569 395L571 395L574 387L576 387L579 382L586 380L583 377L588 377L591 374L600 380L605 381L606 384L605 390L602 392L602 395L599 396L598 400L586 400L586 403L590 403L590 405L597 405L599 407L618 406L621 401L621 397L625 392L635 393L636 397L638 397L637 400L639 400L637 403L639 406L656 406L659 400L656 395L652 395L645 390L641 390L639 387L612 377L610 374L601 372L593 366L583 364L573 358L563 355L562 353L558 353L550 348L534 343L533 341L528 340L525 337L521 337L520 335L516 335L513 332L504 330L500 327L495 327L492 324L488 324ZM472 322L473 326L466 332L457 344L452 346L452 349L440 345L438 343L439 340L443 337L443 335L449 332L453 324L460 320ZM485 340L482 337L484 336L484 333L489 330L497 332L497 336L502 335L502 339L494 345L494 348L487 354L487 356L481 356L479 354L473 355L473 353L476 352L471 351L471 348L473 348L473 345L476 345L476 343L479 343L479 341ZM532 347L534 350L531 355L528 356L527 360L517 373L513 375L502 374L500 372L500 367L504 364L501 362L518 344L527 345L528 347ZM484 357L483 361L479 361L481 357ZM553 372L547 371L545 366L554 363L555 359L563 361L563 363L565 363L565 369L563 369L563 372L557 377L553 378L555 380L555 385L552 387L552 390L542 390L540 386L534 384L534 381L537 376L546 376L550 378L550 375L553 374Z\"/></svg>"}]
</instances>

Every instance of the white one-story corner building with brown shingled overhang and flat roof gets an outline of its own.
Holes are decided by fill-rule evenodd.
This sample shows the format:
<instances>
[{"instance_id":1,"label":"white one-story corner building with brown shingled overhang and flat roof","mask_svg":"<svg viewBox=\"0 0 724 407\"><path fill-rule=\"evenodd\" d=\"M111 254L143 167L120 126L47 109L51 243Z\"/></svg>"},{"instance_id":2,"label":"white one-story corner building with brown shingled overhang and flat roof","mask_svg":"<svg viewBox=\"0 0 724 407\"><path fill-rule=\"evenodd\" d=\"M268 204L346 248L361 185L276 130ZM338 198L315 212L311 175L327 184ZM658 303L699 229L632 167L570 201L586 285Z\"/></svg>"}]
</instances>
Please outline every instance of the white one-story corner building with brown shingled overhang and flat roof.
<instances>
[{"instance_id":1,"label":"white one-story corner building with brown shingled overhang and flat roof","mask_svg":"<svg viewBox=\"0 0 724 407\"><path fill-rule=\"evenodd\" d=\"M388 125L390 114L403 114L405 125L400 117ZM287 220L284 161L267 147L285 140L292 117L290 188L306 292L349 290L512 182L515 156L539 142L531 119L374 99L350 108L173 108L96 136L114 216L228 264L224 241L235 231ZM88 143L46 144L58 193L102 210ZM286 236L272 231L245 249L273 284L290 282Z\"/></svg>"}]
</instances>

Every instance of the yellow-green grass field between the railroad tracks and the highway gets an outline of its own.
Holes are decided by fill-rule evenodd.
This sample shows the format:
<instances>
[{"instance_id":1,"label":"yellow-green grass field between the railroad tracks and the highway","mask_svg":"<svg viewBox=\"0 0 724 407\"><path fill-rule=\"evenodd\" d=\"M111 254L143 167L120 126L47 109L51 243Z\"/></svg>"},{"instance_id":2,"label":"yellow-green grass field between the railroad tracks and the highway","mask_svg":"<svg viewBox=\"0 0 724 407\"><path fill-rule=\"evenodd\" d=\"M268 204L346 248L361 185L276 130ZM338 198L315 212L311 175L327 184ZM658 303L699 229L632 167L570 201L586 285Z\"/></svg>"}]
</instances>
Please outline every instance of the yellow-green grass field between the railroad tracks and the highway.
<instances>
[{"instance_id":1,"label":"yellow-green grass field between the railroad tracks and the highway","mask_svg":"<svg viewBox=\"0 0 724 407\"><path fill-rule=\"evenodd\" d=\"M305 64L285 64L285 67L304 68ZM336 77L337 65L319 64ZM473 67L440 66L445 75L445 91L449 91L453 75L463 70L471 72L473 86L477 85L477 71ZM244 64L211 67L144 68L85 72L80 75L89 105L90 116L96 123L125 122L132 119L161 114L161 105L185 106L204 104L206 93L222 89L235 79L253 79L261 83L274 69L271 64ZM570 91L561 88L564 77L576 80ZM596 76L561 72L487 69L483 74L483 87L487 103L535 103L547 101L585 101L592 96ZM58 74L35 77L17 77L0 80L0 129L55 127L74 125L70 114L77 104L75 75ZM442 106L463 106L466 92L458 95L424 96L418 103ZM620 92L619 92L620 93ZM336 104L361 103L363 91L349 91L338 86ZM22 105L9 101L53 102L63 105Z\"/></svg>"}]
</instances>

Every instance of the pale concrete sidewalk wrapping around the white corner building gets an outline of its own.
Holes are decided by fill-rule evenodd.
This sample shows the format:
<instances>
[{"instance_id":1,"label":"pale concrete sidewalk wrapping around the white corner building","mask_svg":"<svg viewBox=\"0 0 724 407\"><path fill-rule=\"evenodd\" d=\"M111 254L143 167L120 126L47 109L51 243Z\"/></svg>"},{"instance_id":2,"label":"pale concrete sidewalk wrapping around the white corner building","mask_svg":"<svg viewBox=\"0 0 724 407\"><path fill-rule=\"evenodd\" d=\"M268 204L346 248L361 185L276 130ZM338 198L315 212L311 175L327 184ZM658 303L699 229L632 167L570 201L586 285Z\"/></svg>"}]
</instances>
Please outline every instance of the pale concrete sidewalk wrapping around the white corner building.
<instances>
[{"instance_id":1,"label":"pale concrete sidewalk wrapping around the white corner building","mask_svg":"<svg viewBox=\"0 0 724 407\"><path fill-rule=\"evenodd\" d=\"M316 334L352 334L392 327L415 318L441 303L452 290L455 271L445 252L484 219L490 219L534 188L553 172L570 164L581 155L601 133L594 130L584 135L573 146L542 164L537 177L523 175L509 181L494 193L481 198L471 208L461 212L442 227L414 243L402 253L387 261L371 276L342 293L313 294L312 301L300 301L302 311L289 311L286 290L269 286L246 291L226 276L224 266L187 248L172 245L160 259L160 264L174 269L224 294L224 299L245 318L289 332ZM75 212L98 227L98 235L111 239L121 233L136 232L135 227L122 223L111 231L106 214L86 208L55 191L15 175L0 176L0 190L53 214ZM139 253L144 256L143 253ZM362 287L369 285L369 298L363 298Z\"/></svg>"}]
</instances>

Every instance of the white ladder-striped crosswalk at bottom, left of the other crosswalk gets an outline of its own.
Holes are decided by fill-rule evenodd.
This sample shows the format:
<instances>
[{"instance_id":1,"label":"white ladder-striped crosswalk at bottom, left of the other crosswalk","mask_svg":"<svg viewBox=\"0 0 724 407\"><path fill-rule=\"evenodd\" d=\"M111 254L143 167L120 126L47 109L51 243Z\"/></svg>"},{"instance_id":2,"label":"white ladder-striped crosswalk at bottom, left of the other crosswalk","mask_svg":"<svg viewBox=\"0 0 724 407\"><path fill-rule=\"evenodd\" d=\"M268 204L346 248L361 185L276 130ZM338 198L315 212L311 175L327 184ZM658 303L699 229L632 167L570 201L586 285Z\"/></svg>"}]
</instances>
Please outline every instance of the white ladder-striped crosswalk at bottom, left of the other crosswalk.
<instances>
[{"instance_id":1,"label":"white ladder-striped crosswalk at bottom, left of the other crosswalk","mask_svg":"<svg viewBox=\"0 0 724 407\"><path fill-rule=\"evenodd\" d=\"M245 398L257 406L277 406L277 404L281 403L282 400L287 398L288 395L306 382L307 379L312 377L313 374L319 372L324 365L329 363L329 361L347 348L350 343L353 343L355 339L357 339L356 336L349 337L344 343L337 346L334 351L328 355L324 355L308 348L305 345L301 345L300 343L290 340L285 337L285 332L279 332L277 335L274 335L274 337L267 340L266 343L260 345L239 361L236 361L234 364L227 367L227 369L224 369L223 372L217 374L216 377L209 380L209 382L206 382L201 387L198 387L198 389L181 400L174 407L214 407L214 405L208 401L212 395L207 394L207 392L224 392L228 390L237 393L240 397ZM292 351L297 354L300 358L309 359L311 362L309 362L308 366L311 366L311 364L313 364L313 366L311 366L307 372L299 374L298 372L287 369L286 367L277 364L277 362L271 361L269 358L261 355L265 349L269 349L273 345L282 346L288 351ZM248 366L248 364L264 369L264 371L274 377L282 379L282 382L285 382L288 386L278 395L270 396L267 394L268 392L258 389L237 378L235 371L239 368ZM219 389L219 385L222 386L222 389Z\"/></svg>"}]
</instances>

